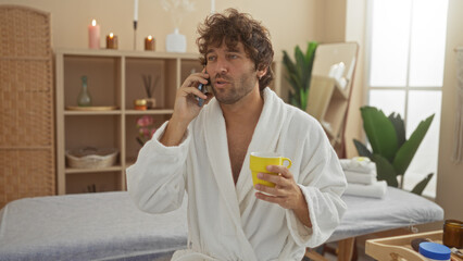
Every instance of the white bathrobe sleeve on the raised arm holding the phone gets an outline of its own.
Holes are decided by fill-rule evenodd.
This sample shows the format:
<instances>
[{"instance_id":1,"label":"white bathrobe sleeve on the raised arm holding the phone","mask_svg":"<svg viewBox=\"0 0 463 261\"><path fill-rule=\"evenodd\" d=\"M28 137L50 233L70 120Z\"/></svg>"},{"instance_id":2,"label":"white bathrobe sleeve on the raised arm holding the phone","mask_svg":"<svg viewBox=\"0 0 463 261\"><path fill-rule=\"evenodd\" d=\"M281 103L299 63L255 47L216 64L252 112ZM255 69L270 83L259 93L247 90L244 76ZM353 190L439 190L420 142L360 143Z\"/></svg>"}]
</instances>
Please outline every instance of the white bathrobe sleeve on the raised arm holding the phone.
<instances>
[{"instance_id":1,"label":"white bathrobe sleeve on the raised arm holding the phone","mask_svg":"<svg viewBox=\"0 0 463 261\"><path fill-rule=\"evenodd\" d=\"M179 208L185 194L190 129L179 146L165 147L159 140L166 126L167 122L145 144L135 164L126 170L128 194L140 210L149 213Z\"/></svg>"}]
</instances>

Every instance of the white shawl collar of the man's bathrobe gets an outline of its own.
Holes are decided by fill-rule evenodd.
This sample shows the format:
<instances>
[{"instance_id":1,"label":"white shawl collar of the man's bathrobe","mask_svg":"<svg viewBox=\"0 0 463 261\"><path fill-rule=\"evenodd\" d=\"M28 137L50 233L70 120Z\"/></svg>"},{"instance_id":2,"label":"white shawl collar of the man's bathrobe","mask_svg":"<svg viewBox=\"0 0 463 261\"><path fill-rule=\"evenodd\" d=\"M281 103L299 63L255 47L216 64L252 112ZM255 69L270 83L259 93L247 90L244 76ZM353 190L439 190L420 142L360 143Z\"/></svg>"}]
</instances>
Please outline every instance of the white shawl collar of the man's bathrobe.
<instances>
[{"instance_id":1,"label":"white shawl collar of the man's bathrobe","mask_svg":"<svg viewBox=\"0 0 463 261\"><path fill-rule=\"evenodd\" d=\"M248 147L247 156L236 184L234 186L232 165L228 154L228 142L225 119L215 99L212 99L205 111L204 135L208 157L214 171L215 179L221 188L230 215L236 225L241 227L239 204L246 195L253 191L249 154L253 151L276 151L279 136L287 116L283 100L268 87L263 90L264 107Z\"/></svg>"}]
</instances>

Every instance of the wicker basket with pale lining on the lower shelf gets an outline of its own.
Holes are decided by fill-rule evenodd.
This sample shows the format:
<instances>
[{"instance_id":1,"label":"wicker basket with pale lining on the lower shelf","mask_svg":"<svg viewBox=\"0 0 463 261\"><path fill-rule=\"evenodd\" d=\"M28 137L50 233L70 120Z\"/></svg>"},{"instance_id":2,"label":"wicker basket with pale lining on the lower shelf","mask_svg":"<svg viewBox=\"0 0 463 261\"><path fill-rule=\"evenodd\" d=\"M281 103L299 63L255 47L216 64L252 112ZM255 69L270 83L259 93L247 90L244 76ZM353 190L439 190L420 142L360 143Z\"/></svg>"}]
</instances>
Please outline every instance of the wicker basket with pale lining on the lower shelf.
<instances>
[{"instance_id":1,"label":"wicker basket with pale lining on the lower shelf","mask_svg":"<svg viewBox=\"0 0 463 261\"><path fill-rule=\"evenodd\" d=\"M117 153L117 149L114 148L97 149L93 147L86 147L76 150L67 150L67 166L75 169L109 167L115 164Z\"/></svg>"}]
</instances>

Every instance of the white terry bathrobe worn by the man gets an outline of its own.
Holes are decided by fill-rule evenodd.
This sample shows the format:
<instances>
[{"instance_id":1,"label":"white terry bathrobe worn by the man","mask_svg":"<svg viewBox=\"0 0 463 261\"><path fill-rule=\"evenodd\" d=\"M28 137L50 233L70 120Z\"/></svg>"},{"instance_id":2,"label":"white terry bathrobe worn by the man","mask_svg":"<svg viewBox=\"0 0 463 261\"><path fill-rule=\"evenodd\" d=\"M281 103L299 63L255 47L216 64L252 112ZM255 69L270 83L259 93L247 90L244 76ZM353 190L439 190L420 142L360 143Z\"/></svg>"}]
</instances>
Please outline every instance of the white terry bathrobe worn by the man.
<instances>
[{"instance_id":1,"label":"white terry bathrobe worn by the man","mask_svg":"<svg viewBox=\"0 0 463 261\"><path fill-rule=\"evenodd\" d=\"M305 247L323 244L339 224L347 183L338 158L316 120L266 88L264 108L235 186L225 120L215 99L190 123L182 144L164 147L166 123L127 169L128 192L141 210L177 209L188 194L188 249L173 260L301 260ZM255 198L249 170L253 151L291 159L312 228L293 211Z\"/></svg>"}]
</instances>

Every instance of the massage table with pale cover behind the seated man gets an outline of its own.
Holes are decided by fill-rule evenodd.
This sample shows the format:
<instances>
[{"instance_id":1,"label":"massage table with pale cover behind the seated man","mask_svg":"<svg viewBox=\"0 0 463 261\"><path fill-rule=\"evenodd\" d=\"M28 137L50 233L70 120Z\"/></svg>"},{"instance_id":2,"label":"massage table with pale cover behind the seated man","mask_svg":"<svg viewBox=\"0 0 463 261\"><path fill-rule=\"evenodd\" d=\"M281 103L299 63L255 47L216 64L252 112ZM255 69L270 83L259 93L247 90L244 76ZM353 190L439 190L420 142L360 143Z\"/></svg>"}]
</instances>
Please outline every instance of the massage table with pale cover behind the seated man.
<instances>
[{"instance_id":1,"label":"massage table with pale cover behind the seated man","mask_svg":"<svg viewBox=\"0 0 463 261\"><path fill-rule=\"evenodd\" d=\"M348 211L328 241L443 219L436 203L392 187L384 199L342 198ZM143 213L126 191L15 200L0 210L0 260L170 260L186 248L186 213L187 199Z\"/></svg>"}]
</instances>

